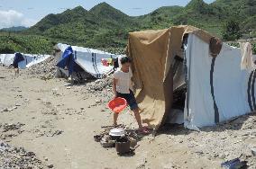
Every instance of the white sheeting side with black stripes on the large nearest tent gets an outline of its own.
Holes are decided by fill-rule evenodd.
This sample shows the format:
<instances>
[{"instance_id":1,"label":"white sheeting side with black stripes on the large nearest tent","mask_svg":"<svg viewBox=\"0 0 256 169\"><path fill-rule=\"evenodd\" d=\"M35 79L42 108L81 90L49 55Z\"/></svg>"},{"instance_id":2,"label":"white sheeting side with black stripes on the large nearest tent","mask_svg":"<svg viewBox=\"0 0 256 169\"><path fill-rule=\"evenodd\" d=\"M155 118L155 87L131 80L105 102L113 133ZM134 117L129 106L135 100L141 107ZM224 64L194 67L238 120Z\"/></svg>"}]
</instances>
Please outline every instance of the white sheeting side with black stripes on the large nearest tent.
<instances>
[{"instance_id":1,"label":"white sheeting side with black stripes on the large nearest tent","mask_svg":"<svg viewBox=\"0 0 256 169\"><path fill-rule=\"evenodd\" d=\"M187 98L185 127L215 125L256 110L255 71L242 70L242 50L223 44L216 58L210 57L209 45L189 34L187 59Z\"/></svg>"}]
</instances>

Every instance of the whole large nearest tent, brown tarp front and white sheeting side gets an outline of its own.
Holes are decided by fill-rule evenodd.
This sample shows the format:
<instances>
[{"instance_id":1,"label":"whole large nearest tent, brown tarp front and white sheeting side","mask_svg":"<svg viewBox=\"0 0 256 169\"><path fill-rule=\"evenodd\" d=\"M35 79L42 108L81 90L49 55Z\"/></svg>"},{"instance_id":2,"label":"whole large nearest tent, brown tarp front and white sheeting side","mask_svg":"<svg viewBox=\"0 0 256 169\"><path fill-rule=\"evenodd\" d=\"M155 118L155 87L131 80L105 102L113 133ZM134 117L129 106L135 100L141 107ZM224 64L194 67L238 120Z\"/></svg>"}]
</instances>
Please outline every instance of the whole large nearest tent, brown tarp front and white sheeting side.
<instances>
[{"instance_id":1,"label":"whole large nearest tent, brown tarp front and white sheeting side","mask_svg":"<svg viewBox=\"0 0 256 169\"><path fill-rule=\"evenodd\" d=\"M186 128L199 129L256 110L256 72L241 69L241 49L221 43L214 53L212 40L192 26L129 33L127 52L144 123L159 129L183 119Z\"/></svg>"}]
</instances>

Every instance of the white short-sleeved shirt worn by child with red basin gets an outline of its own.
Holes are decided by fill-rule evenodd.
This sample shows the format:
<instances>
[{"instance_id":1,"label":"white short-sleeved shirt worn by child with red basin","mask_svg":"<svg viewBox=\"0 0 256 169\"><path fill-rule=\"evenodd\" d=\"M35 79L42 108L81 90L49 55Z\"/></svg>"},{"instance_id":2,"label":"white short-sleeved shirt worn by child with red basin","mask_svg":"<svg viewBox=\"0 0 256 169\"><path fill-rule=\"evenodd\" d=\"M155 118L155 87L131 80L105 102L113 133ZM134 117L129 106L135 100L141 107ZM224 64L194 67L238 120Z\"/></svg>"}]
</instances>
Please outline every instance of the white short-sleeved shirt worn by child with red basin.
<instances>
[{"instance_id":1,"label":"white short-sleeved shirt worn by child with red basin","mask_svg":"<svg viewBox=\"0 0 256 169\"><path fill-rule=\"evenodd\" d=\"M131 78L133 73L131 68L129 68L128 73L124 73L120 68L114 72L114 79L117 80L116 83L116 92L118 93L130 93L130 90L133 89Z\"/></svg>"}]
</instances>

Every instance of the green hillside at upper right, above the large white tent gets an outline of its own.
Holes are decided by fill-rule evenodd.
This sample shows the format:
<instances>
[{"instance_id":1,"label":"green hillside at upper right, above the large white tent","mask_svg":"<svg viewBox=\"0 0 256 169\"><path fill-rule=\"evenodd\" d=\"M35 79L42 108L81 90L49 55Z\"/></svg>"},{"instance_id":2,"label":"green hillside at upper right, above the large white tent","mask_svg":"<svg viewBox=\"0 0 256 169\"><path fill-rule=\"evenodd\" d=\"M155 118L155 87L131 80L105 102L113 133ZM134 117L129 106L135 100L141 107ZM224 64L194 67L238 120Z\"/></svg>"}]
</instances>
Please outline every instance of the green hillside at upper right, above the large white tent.
<instances>
[{"instance_id":1,"label":"green hillside at upper right, above the large white tent","mask_svg":"<svg viewBox=\"0 0 256 169\"><path fill-rule=\"evenodd\" d=\"M161 10L160 13L165 12ZM241 23L242 31L255 31L255 17L256 0L216 0L212 4L206 4L203 0L191 0L174 17L169 17L169 24L190 24L221 37L224 22L231 19Z\"/></svg>"}]
</instances>

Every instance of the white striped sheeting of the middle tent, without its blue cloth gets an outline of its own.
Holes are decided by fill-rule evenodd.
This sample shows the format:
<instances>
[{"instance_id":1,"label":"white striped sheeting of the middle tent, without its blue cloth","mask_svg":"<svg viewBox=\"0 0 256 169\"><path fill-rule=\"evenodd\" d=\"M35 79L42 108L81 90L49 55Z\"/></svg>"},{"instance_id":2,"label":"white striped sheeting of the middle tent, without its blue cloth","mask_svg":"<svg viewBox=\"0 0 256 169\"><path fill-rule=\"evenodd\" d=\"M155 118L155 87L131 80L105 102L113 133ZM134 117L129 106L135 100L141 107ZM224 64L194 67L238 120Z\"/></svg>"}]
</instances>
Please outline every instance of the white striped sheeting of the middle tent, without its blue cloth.
<instances>
[{"instance_id":1,"label":"white striped sheeting of the middle tent, without its blue cloth","mask_svg":"<svg viewBox=\"0 0 256 169\"><path fill-rule=\"evenodd\" d=\"M57 48L61 50L60 58L67 49L69 45L59 43ZM78 66L82 67L87 73L96 78L101 78L103 75L110 73L113 71L113 67L105 67L101 63L102 58L119 58L123 57L121 55L114 55L105 51L97 50L97 49L88 49L77 46L72 46L74 51L75 62Z\"/></svg>"}]
</instances>

